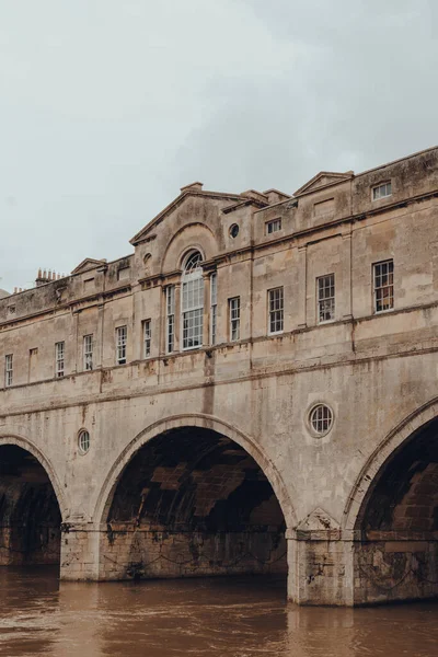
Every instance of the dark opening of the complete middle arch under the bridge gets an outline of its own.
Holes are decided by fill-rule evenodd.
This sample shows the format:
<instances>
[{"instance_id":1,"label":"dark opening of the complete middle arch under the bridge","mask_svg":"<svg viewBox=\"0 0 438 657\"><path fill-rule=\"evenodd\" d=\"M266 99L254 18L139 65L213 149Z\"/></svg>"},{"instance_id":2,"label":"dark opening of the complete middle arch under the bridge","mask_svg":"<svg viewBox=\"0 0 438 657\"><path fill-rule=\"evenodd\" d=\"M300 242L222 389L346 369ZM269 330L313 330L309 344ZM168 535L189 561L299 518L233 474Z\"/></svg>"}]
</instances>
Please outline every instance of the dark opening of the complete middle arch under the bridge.
<instances>
[{"instance_id":1,"label":"dark opening of the complete middle arch under the bridge","mask_svg":"<svg viewBox=\"0 0 438 657\"><path fill-rule=\"evenodd\" d=\"M235 441L198 426L151 438L106 505L101 578L278 574L285 518L270 483Z\"/></svg>"}]
</instances>

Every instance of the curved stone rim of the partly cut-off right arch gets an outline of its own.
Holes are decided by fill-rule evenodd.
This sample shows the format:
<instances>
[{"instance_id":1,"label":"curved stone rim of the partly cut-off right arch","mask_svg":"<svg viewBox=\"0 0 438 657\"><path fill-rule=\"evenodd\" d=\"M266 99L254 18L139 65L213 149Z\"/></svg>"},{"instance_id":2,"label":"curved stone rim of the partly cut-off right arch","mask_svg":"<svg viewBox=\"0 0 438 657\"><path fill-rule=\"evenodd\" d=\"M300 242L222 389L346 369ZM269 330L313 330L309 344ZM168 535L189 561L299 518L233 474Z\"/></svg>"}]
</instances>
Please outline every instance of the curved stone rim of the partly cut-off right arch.
<instances>
[{"instance_id":1,"label":"curved stone rim of the partly cut-off right arch","mask_svg":"<svg viewBox=\"0 0 438 657\"><path fill-rule=\"evenodd\" d=\"M376 485L379 474L414 434L438 417L438 397L434 397L411 415L406 416L377 446L362 466L344 508L342 529L358 529L358 522L365 511L367 500Z\"/></svg>"}]
</instances>

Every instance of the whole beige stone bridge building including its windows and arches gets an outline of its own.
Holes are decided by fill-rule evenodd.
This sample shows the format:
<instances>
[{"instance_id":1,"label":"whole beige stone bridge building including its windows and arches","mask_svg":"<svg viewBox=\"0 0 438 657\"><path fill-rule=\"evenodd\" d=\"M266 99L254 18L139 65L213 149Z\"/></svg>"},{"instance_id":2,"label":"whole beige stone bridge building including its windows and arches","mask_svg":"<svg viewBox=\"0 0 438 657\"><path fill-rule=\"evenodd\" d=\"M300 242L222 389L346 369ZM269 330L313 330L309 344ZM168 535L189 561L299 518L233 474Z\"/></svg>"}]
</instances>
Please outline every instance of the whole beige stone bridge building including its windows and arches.
<instances>
[{"instance_id":1,"label":"whole beige stone bridge building including its windows and arches","mask_svg":"<svg viewBox=\"0 0 438 657\"><path fill-rule=\"evenodd\" d=\"M438 592L438 149L289 196L194 183L0 298L0 564Z\"/></svg>"}]
</instances>

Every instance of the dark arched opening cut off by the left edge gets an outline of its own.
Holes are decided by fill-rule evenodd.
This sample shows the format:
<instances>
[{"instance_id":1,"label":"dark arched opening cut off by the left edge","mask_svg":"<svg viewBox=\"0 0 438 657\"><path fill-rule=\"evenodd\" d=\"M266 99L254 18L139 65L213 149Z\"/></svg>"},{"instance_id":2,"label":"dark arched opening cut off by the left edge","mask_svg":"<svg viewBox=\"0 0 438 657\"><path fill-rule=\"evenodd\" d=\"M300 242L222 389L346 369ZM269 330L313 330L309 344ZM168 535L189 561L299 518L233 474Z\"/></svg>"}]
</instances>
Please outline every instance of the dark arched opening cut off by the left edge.
<instances>
[{"instance_id":1,"label":"dark arched opening cut off by the left edge","mask_svg":"<svg viewBox=\"0 0 438 657\"><path fill-rule=\"evenodd\" d=\"M60 561L59 504L39 461L16 445L0 445L0 565Z\"/></svg>"}]
</instances>

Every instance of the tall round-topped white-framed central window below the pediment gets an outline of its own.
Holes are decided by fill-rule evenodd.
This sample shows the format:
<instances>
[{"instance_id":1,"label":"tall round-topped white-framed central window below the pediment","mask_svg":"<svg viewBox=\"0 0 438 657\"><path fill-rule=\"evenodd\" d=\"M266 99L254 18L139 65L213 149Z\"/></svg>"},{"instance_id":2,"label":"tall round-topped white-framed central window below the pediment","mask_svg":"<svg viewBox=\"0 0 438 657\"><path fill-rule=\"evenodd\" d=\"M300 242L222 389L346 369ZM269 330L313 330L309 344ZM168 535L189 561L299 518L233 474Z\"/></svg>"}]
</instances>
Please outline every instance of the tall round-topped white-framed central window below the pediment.
<instances>
[{"instance_id":1,"label":"tall round-topped white-framed central window below the pediment","mask_svg":"<svg viewBox=\"0 0 438 657\"><path fill-rule=\"evenodd\" d=\"M184 262L182 326L183 349L194 349L203 345L204 278L203 256L199 251L191 251Z\"/></svg>"}]
</instances>

